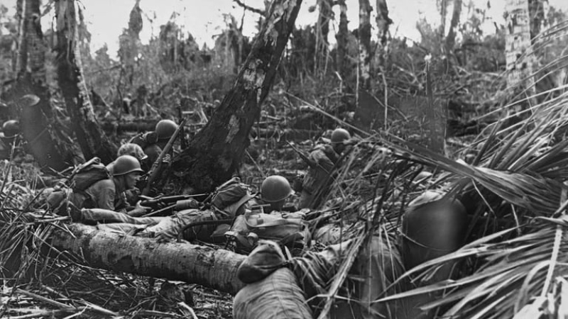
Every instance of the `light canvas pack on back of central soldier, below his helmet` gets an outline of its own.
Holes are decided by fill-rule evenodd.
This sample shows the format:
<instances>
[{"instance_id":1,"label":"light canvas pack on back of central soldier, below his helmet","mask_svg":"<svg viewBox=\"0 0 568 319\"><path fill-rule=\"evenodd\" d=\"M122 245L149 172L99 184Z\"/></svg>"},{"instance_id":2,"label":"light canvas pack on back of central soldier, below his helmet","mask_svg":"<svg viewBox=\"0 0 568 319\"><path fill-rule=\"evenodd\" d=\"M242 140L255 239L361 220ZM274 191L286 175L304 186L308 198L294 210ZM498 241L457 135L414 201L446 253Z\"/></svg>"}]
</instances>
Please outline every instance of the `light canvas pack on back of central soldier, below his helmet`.
<instances>
[{"instance_id":1,"label":"light canvas pack on back of central soldier, below his helmet","mask_svg":"<svg viewBox=\"0 0 568 319\"><path fill-rule=\"evenodd\" d=\"M272 240L278 245L302 250L310 242L310 230L302 213L249 213L237 216L226 236L234 239L239 250L250 252L257 240Z\"/></svg>"}]
</instances>

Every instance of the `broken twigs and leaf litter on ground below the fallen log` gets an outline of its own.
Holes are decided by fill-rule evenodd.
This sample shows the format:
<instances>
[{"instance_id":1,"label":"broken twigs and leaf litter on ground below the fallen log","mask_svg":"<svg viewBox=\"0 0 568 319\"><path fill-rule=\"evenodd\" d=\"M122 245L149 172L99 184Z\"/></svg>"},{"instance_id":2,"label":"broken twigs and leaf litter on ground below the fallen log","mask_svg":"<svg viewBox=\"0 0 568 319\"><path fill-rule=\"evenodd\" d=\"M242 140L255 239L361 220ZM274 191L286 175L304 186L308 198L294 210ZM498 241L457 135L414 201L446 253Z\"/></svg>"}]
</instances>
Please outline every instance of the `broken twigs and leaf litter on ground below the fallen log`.
<instances>
[{"instance_id":1,"label":"broken twigs and leaf litter on ground below the fallen log","mask_svg":"<svg viewBox=\"0 0 568 319\"><path fill-rule=\"evenodd\" d=\"M199 285L79 265L1 289L1 318L231 318L232 297Z\"/></svg>"}]
</instances>

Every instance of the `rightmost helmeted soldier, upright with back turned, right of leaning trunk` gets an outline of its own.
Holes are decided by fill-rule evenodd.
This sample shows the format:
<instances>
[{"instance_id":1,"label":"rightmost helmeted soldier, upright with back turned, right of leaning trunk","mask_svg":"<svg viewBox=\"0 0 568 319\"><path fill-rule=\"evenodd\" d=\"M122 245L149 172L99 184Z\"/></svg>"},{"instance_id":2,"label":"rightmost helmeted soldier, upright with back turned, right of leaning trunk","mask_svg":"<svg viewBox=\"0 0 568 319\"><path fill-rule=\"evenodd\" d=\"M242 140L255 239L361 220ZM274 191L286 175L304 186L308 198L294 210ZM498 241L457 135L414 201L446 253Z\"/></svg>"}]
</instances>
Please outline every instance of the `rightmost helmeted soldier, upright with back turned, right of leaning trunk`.
<instances>
[{"instance_id":1,"label":"rightmost helmeted soldier, upright with back turned, right of leaning trunk","mask_svg":"<svg viewBox=\"0 0 568 319\"><path fill-rule=\"evenodd\" d=\"M331 145L317 145L310 153L310 168L302 181L302 195L298 208L315 208L315 194L329 186L330 173L351 138L347 130L337 128L332 133ZM327 182L326 182L327 181Z\"/></svg>"}]
</instances>

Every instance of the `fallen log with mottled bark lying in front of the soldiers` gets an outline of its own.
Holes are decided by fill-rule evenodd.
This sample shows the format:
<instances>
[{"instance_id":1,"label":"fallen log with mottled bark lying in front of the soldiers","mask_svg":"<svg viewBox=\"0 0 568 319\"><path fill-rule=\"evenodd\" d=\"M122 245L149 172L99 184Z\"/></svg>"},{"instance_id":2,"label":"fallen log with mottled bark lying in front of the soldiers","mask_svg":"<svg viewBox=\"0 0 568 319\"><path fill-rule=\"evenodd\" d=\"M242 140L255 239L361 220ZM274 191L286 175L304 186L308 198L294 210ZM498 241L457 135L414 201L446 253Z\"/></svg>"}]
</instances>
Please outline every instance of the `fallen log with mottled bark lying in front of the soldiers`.
<instances>
[{"instance_id":1,"label":"fallen log with mottled bark lying in front of the soldiers","mask_svg":"<svg viewBox=\"0 0 568 319\"><path fill-rule=\"evenodd\" d=\"M80 224L56 230L55 249L82 256L89 267L185 281L236 294L244 284L236 270L246 256L187 243L119 235Z\"/></svg>"}]
</instances>

